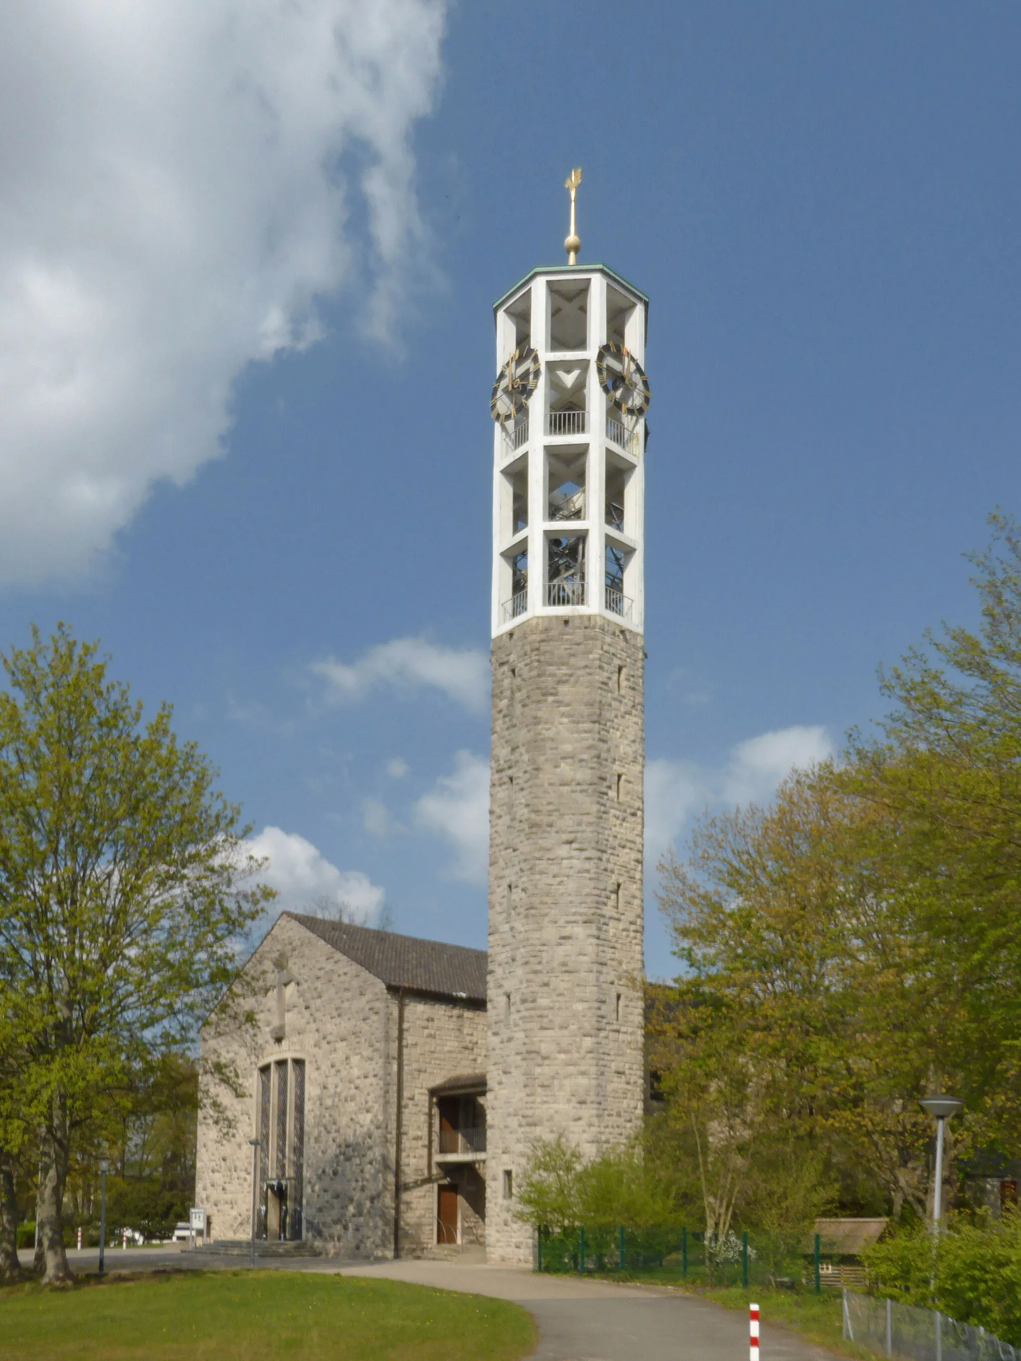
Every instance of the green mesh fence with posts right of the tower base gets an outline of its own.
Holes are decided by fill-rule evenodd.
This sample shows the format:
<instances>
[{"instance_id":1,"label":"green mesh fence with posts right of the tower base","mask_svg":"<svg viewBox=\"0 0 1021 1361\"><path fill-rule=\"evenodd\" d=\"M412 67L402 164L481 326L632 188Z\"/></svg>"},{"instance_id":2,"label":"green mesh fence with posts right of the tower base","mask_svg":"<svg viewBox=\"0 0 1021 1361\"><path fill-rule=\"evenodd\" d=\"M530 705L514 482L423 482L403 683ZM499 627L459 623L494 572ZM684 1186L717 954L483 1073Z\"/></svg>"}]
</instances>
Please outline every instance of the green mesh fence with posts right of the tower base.
<instances>
[{"instance_id":1,"label":"green mesh fence with posts right of the tower base","mask_svg":"<svg viewBox=\"0 0 1021 1361\"><path fill-rule=\"evenodd\" d=\"M841 1259L818 1237L727 1233L686 1226L579 1225L540 1229L536 1270L658 1277L704 1285L824 1290L841 1282Z\"/></svg>"}]
</instances>

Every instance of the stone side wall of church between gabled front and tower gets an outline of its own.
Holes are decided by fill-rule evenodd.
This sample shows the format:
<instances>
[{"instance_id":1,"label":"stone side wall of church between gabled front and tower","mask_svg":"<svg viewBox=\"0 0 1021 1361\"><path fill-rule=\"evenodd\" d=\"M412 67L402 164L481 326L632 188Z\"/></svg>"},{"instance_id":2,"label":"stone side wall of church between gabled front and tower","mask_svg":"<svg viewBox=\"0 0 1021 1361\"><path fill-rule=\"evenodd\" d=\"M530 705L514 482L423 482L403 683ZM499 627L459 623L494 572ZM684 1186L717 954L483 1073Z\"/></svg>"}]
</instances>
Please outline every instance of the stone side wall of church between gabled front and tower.
<instances>
[{"instance_id":1,"label":"stone side wall of church between gabled front and tower","mask_svg":"<svg viewBox=\"0 0 1021 1361\"><path fill-rule=\"evenodd\" d=\"M398 994L389 994L388 1053L396 1093ZM400 1253L415 1256L436 1243L436 1187L448 1180L429 1157L429 1090L447 1078L486 1071L486 1011L468 1000L404 996L404 1100L402 1135ZM436 1141L436 1135L433 1135ZM391 1136L391 1153L393 1150ZM392 1157L389 1166L393 1166ZM392 1176L392 1172L391 1172ZM485 1162L457 1168L449 1180L460 1194L461 1240L485 1243Z\"/></svg>"}]
</instances>

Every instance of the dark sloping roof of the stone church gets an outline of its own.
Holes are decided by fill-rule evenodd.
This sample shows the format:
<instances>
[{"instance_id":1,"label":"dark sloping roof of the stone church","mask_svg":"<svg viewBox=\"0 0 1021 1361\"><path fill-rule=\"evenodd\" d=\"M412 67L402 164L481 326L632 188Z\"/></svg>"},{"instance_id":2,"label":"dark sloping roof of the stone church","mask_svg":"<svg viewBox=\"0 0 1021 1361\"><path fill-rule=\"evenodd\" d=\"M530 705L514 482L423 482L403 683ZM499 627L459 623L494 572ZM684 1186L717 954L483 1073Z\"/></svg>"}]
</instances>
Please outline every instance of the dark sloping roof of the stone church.
<instances>
[{"instance_id":1,"label":"dark sloping roof of the stone church","mask_svg":"<svg viewBox=\"0 0 1021 1361\"><path fill-rule=\"evenodd\" d=\"M486 1000L486 951L441 940L419 940L392 931L354 927L346 921L324 921L289 912L306 930L340 954L359 964L388 988L433 992L445 998Z\"/></svg>"}]
</instances>

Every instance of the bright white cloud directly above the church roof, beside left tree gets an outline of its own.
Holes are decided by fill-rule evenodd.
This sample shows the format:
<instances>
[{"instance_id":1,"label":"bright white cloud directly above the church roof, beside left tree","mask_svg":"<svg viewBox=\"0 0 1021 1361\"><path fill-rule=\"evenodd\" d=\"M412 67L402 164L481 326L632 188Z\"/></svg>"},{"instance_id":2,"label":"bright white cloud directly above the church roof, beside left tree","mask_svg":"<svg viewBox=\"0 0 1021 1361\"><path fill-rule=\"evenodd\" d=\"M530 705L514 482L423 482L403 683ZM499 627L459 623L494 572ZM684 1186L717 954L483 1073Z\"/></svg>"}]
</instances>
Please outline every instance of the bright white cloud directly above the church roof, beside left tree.
<instances>
[{"instance_id":1,"label":"bright white cloud directly above the church roof, beside left tree","mask_svg":"<svg viewBox=\"0 0 1021 1361\"><path fill-rule=\"evenodd\" d=\"M263 827L246 845L253 856L270 862L259 878L276 889L272 912L310 912L325 902L344 906L350 920L363 925L378 920L385 890L361 870L338 870L295 832Z\"/></svg>"}]
</instances>

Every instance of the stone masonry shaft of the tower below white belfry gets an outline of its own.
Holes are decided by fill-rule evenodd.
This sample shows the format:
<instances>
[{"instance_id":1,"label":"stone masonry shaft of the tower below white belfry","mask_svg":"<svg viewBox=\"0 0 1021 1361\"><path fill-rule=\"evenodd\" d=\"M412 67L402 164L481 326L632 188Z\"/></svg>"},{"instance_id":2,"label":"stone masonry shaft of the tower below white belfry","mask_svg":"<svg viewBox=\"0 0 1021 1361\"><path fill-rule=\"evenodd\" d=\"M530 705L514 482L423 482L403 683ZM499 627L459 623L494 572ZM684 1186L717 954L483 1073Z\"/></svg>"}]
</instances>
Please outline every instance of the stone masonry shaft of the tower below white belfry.
<instances>
[{"instance_id":1,"label":"stone masonry shaft of the tower below white belfry","mask_svg":"<svg viewBox=\"0 0 1021 1361\"><path fill-rule=\"evenodd\" d=\"M504 1172L535 1139L587 1157L643 1111L643 637L602 615L493 641L490 1260L530 1262Z\"/></svg>"}]
</instances>

